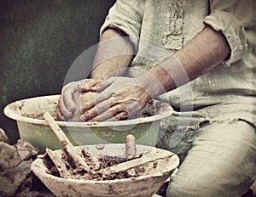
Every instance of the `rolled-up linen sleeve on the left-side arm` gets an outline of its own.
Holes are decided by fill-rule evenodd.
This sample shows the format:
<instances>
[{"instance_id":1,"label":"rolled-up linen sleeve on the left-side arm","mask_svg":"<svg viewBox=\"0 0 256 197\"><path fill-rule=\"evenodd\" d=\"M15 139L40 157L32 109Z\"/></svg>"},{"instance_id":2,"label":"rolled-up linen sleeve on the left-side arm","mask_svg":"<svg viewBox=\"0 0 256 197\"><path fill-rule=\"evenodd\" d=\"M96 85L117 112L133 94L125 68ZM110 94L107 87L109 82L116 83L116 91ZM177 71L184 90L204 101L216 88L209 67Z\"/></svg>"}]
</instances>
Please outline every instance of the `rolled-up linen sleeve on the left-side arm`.
<instances>
[{"instance_id":1,"label":"rolled-up linen sleeve on the left-side arm","mask_svg":"<svg viewBox=\"0 0 256 197\"><path fill-rule=\"evenodd\" d=\"M119 29L130 37L131 42L137 48L142 27L143 10L144 1L117 0L113 7L109 9L108 16L101 27L100 35L108 27Z\"/></svg>"}]
</instances>

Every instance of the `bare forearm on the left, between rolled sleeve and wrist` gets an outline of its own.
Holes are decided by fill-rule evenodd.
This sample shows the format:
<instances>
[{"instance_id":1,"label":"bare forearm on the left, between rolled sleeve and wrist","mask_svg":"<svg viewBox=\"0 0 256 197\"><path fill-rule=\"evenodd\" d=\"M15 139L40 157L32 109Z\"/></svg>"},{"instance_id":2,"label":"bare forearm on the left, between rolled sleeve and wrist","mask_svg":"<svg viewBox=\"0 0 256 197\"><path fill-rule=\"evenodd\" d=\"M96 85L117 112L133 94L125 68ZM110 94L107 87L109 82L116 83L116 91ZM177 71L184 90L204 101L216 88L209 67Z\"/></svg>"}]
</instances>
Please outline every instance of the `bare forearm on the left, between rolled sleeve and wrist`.
<instances>
[{"instance_id":1,"label":"bare forearm on the left, between rolled sleeve and wrist","mask_svg":"<svg viewBox=\"0 0 256 197\"><path fill-rule=\"evenodd\" d=\"M108 29L103 32L90 78L105 80L122 76L133 58L134 47L121 31Z\"/></svg>"}]
</instances>

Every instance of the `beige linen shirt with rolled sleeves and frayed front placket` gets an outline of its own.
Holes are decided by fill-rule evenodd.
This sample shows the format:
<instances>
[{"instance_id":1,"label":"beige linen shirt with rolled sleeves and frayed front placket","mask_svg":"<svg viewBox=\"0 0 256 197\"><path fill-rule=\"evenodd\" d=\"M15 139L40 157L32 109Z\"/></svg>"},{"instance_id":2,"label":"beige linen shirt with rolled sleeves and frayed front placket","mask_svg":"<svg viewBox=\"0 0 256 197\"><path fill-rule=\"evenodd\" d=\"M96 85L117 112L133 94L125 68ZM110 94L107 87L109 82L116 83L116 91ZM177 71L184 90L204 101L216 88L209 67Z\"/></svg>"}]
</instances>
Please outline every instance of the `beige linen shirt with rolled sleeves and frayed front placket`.
<instances>
[{"instance_id":1,"label":"beige linen shirt with rolled sleeves and frayed front placket","mask_svg":"<svg viewBox=\"0 0 256 197\"><path fill-rule=\"evenodd\" d=\"M256 125L255 0L117 0L102 25L130 37L136 51L128 76L160 64L201 31L221 31L230 58L207 74L165 93L175 110L191 110L218 120ZM200 54L199 54L200 55Z\"/></svg>"}]
</instances>

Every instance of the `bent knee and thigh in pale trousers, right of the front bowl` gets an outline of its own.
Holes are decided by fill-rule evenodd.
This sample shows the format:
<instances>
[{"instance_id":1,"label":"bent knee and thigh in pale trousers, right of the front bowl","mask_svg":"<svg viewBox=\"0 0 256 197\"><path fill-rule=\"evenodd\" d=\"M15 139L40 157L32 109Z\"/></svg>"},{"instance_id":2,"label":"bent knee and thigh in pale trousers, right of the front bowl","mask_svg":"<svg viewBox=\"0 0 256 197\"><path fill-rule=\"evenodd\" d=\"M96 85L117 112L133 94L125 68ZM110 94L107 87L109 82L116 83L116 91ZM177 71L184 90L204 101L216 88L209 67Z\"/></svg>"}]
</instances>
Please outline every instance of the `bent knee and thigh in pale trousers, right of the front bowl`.
<instances>
[{"instance_id":1,"label":"bent knee and thigh in pale trousers, right of the front bowl","mask_svg":"<svg viewBox=\"0 0 256 197\"><path fill-rule=\"evenodd\" d=\"M167 196L241 197L256 177L255 128L244 121L199 129Z\"/></svg>"}]
</instances>

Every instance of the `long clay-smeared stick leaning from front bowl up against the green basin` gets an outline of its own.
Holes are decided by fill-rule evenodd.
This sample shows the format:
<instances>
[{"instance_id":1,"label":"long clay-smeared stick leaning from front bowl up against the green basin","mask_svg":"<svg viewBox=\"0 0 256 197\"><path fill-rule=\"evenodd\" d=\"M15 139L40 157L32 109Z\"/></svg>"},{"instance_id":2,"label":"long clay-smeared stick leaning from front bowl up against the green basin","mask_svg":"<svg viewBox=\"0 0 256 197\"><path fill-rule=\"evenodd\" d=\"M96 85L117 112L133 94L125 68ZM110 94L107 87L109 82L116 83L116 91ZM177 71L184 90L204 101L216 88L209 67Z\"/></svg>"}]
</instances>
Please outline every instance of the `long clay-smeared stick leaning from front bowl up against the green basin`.
<instances>
[{"instance_id":1,"label":"long clay-smeared stick leaning from front bowl up against the green basin","mask_svg":"<svg viewBox=\"0 0 256 197\"><path fill-rule=\"evenodd\" d=\"M67 154L73 159L75 166L79 170L85 170L86 172L91 172L90 166L88 166L83 158L74 149L73 144L69 141L65 133L61 130L61 127L55 122L54 118L49 114L48 111L44 113L44 119L48 123L49 127L55 132L56 137L60 140L64 149L66 149Z\"/></svg>"}]
</instances>

